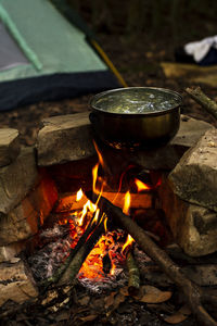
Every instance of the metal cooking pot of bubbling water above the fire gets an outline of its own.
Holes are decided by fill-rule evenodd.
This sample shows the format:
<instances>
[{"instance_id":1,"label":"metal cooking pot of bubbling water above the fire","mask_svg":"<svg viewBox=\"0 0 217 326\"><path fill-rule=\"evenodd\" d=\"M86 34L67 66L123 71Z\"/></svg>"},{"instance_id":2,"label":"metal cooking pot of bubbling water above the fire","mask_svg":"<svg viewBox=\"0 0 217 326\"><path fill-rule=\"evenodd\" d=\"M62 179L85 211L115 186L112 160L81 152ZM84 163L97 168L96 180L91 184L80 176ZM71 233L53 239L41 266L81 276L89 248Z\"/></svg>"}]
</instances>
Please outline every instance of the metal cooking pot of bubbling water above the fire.
<instances>
[{"instance_id":1,"label":"metal cooking pot of bubbling water above the fire","mask_svg":"<svg viewBox=\"0 0 217 326\"><path fill-rule=\"evenodd\" d=\"M181 103L181 96L169 89L118 88L91 99L89 118L97 137L107 145L149 149L167 143L176 135Z\"/></svg>"}]
</instances>

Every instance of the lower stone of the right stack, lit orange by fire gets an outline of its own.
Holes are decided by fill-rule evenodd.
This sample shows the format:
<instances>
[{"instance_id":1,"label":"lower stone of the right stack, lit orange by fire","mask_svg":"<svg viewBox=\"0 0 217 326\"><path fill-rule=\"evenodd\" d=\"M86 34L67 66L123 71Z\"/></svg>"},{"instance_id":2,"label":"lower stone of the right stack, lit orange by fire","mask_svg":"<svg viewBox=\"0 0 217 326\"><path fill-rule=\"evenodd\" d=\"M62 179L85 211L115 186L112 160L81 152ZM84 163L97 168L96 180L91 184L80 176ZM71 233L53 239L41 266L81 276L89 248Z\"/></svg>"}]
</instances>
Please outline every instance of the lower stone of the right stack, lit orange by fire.
<instances>
[{"instance_id":1,"label":"lower stone of the right stack, lit orange by fire","mask_svg":"<svg viewBox=\"0 0 217 326\"><path fill-rule=\"evenodd\" d=\"M167 223L183 251L191 256L217 251L217 213L180 199L166 178L158 191Z\"/></svg>"}]
</instances>

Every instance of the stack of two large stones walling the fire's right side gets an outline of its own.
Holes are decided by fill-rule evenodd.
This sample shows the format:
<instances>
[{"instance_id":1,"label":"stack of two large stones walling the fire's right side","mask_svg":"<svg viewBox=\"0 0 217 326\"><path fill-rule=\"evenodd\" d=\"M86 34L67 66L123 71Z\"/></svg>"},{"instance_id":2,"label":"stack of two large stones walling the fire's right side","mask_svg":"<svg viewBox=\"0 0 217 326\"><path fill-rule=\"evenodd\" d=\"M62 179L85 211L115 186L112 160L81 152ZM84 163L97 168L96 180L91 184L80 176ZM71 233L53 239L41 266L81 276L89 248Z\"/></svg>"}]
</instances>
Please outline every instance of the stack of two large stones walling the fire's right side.
<instances>
[{"instance_id":1,"label":"stack of two large stones walling the fire's right side","mask_svg":"<svg viewBox=\"0 0 217 326\"><path fill-rule=\"evenodd\" d=\"M217 250L217 129L189 149L161 188L171 231L186 253Z\"/></svg>"}]
</instances>

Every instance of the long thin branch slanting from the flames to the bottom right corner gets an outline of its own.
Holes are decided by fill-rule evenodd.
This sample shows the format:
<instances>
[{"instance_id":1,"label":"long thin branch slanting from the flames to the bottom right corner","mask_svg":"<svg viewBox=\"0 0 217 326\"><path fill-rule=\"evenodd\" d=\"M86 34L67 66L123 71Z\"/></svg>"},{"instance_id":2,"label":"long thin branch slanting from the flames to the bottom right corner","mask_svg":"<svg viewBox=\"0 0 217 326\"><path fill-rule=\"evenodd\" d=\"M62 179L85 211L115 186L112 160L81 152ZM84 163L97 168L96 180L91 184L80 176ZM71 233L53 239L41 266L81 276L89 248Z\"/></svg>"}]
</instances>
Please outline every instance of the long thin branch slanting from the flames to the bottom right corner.
<instances>
[{"instance_id":1,"label":"long thin branch slanting from the flames to the bottom right corner","mask_svg":"<svg viewBox=\"0 0 217 326\"><path fill-rule=\"evenodd\" d=\"M216 298L215 300L213 297L209 298L206 293L204 293L201 287L191 281L181 272L180 267L170 260L167 253L152 241L144 230L129 216L124 214L119 208L113 205L103 197L101 197L99 205L107 216L117 220L123 225L123 227L138 242L140 248L153 261L155 261L159 265L161 269L181 289L186 301L189 303L189 306L199 323L205 326L217 326L217 322L215 322L203 306L204 302L214 303L216 305Z\"/></svg>"}]
</instances>

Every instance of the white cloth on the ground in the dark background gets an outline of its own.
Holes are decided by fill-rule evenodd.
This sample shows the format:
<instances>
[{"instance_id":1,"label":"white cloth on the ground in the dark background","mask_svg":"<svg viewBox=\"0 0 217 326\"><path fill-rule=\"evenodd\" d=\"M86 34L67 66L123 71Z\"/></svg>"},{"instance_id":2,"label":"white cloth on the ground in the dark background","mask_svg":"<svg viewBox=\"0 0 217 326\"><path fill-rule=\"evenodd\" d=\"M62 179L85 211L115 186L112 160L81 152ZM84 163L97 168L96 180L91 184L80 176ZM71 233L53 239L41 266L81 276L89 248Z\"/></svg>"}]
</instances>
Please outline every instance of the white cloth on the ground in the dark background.
<instances>
[{"instance_id":1,"label":"white cloth on the ground in the dark background","mask_svg":"<svg viewBox=\"0 0 217 326\"><path fill-rule=\"evenodd\" d=\"M206 37L201 41L187 43L184 51L187 54L193 55L196 62L200 62L208 53L210 47L217 49L217 35Z\"/></svg>"}]
</instances>

